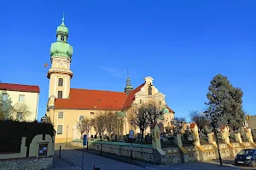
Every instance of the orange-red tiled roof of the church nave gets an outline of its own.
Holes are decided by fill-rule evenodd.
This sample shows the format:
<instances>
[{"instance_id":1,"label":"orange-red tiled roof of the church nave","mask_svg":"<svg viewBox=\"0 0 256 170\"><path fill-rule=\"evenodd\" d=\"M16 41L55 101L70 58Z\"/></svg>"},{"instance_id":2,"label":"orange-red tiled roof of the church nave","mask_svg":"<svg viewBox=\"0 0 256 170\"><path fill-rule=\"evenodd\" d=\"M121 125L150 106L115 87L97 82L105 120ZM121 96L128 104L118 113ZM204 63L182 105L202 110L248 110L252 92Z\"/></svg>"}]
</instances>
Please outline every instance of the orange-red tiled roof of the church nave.
<instances>
[{"instance_id":1,"label":"orange-red tiled roof of the church nave","mask_svg":"<svg viewBox=\"0 0 256 170\"><path fill-rule=\"evenodd\" d=\"M55 99L55 109L121 111L131 106L135 94L143 88L144 84L128 95L125 92L71 88L69 99ZM174 113L169 107L167 108Z\"/></svg>"}]
</instances>

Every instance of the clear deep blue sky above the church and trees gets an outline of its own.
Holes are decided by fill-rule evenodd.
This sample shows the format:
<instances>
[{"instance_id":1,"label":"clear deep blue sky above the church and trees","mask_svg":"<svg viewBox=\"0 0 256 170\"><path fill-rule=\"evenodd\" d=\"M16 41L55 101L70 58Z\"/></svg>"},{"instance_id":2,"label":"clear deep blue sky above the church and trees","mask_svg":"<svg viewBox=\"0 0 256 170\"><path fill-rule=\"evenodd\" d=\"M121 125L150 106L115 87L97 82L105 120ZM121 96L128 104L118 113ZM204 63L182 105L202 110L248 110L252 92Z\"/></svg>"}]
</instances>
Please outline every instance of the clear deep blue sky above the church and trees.
<instances>
[{"instance_id":1,"label":"clear deep blue sky above the church and trees","mask_svg":"<svg viewBox=\"0 0 256 170\"><path fill-rule=\"evenodd\" d=\"M1 2L1 82L38 85L38 119L49 93L49 48L65 12L72 88L124 91L153 77L176 116L205 108L222 74L256 115L256 1L41 0Z\"/></svg>"}]
</instances>

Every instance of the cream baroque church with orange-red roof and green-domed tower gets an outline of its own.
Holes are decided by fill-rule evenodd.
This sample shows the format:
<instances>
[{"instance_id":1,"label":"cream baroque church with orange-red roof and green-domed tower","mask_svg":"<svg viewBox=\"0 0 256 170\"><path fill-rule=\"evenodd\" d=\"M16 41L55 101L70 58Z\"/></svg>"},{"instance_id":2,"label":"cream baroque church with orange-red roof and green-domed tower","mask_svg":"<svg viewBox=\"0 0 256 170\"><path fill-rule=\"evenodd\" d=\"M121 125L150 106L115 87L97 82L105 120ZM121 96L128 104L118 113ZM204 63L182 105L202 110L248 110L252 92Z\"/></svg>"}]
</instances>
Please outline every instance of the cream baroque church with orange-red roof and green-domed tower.
<instances>
[{"instance_id":1,"label":"cream baroque church with orange-red roof and green-domed tower","mask_svg":"<svg viewBox=\"0 0 256 170\"><path fill-rule=\"evenodd\" d=\"M49 78L49 99L47 104L46 116L48 122L51 122L56 131L55 142L69 142L72 139L79 139L79 130L76 124L79 120L87 117L93 119L99 111L114 111L117 114L124 115L123 134L128 134L130 130L139 133L139 128L134 129L128 119L128 112L136 105L142 105L147 100L154 100L162 105L166 110L163 118L158 120L163 127L171 124L174 118L174 111L166 105L165 94L161 94L154 87L153 78L145 77L142 84L137 88L131 86L129 77L126 79L126 85L123 92L104 91L85 88L71 88L70 81L73 77L73 71L70 69L73 47L68 44L68 28L62 23L57 27L56 42L50 47L50 61L47 77ZM149 133L149 127L145 133ZM96 134L92 127L90 135Z\"/></svg>"}]
</instances>

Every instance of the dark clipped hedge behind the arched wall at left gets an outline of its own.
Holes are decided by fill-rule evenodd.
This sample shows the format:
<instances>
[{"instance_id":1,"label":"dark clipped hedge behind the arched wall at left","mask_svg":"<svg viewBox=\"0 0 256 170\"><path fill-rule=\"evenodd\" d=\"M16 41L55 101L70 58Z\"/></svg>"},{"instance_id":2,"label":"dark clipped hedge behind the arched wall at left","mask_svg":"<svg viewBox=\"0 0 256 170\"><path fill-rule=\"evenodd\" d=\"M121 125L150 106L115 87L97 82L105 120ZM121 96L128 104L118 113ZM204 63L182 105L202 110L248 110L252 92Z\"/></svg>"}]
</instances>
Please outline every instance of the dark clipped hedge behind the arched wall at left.
<instances>
[{"instance_id":1,"label":"dark clipped hedge behind the arched wall at left","mask_svg":"<svg viewBox=\"0 0 256 170\"><path fill-rule=\"evenodd\" d=\"M50 123L0 121L0 153L20 152L22 137L26 137L26 147L29 150L32 139L38 134L53 137L55 129Z\"/></svg>"}]
</instances>

